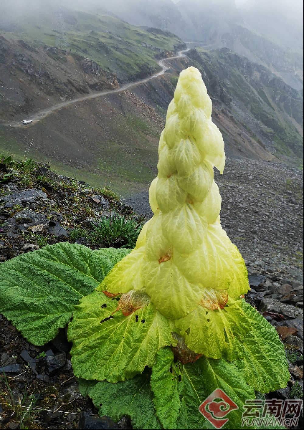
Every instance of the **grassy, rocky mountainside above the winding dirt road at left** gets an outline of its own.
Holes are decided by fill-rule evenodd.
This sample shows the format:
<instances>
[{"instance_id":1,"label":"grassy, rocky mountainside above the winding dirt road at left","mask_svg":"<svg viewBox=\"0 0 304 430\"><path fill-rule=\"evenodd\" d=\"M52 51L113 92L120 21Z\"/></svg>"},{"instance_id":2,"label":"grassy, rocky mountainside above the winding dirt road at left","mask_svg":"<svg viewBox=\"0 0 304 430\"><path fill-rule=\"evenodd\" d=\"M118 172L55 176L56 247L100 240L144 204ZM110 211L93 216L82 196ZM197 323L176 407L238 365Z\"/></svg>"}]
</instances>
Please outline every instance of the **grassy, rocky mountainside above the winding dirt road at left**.
<instances>
[{"instance_id":1,"label":"grassy, rocky mountainside above the winding dirt road at left","mask_svg":"<svg viewBox=\"0 0 304 430\"><path fill-rule=\"evenodd\" d=\"M4 7L0 29L0 116L7 120L149 76L157 58L183 46L173 34L48 2L29 2L20 15Z\"/></svg>"}]
</instances>

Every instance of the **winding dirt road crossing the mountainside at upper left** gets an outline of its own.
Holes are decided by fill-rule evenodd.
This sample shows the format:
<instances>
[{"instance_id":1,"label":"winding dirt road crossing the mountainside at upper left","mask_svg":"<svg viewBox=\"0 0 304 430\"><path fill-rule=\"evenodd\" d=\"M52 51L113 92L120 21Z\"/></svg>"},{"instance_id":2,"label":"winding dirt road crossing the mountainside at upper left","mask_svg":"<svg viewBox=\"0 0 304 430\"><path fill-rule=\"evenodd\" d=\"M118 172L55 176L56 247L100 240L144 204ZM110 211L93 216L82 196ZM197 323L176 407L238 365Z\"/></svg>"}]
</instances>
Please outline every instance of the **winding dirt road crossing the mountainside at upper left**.
<instances>
[{"instance_id":1,"label":"winding dirt road crossing the mountainside at upper left","mask_svg":"<svg viewBox=\"0 0 304 430\"><path fill-rule=\"evenodd\" d=\"M179 51L178 55L175 55L174 57L163 58L162 60L158 61L158 64L162 68L162 70L160 72L155 73L154 75L147 77L147 78L144 78L144 79L141 79L141 80L138 80L135 82L126 83L125 85L123 85L117 89L98 91L98 92L95 92L93 94L83 95L81 97L73 98L73 100L63 101L62 103L58 103L58 104L55 104L54 106L47 107L46 109L43 109L43 110L41 110L35 114L32 114L31 117L28 119L31 119L33 122L31 124L27 124L26 126L29 127L29 126L37 123L38 121L42 120L43 118L47 117L48 115L52 114L52 112L55 112L55 111L57 112L60 109L62 109L63 107L69 106L70 104L73 104L73 103L77 103L78 101L89 100L91 98L97 98L97 97L101 97L103 95L115 94L116 92L122 92L122 91L125 91L126 89L135 87L135 86L140 85L142 83L148 82L154 78L157 78L158 76L163 75L166 72L166 70L169 69L169 65L167 64L167 61L174 60L177 58L183 58L186 56L184 54L184 52L187 52L187 51L189 51L189 49L184 49L182 51ZM8 126L8 127L25 126L20 121L10 122L10 123L0 123L0 124L3 126Z\"/></svg>"}]
</instances>

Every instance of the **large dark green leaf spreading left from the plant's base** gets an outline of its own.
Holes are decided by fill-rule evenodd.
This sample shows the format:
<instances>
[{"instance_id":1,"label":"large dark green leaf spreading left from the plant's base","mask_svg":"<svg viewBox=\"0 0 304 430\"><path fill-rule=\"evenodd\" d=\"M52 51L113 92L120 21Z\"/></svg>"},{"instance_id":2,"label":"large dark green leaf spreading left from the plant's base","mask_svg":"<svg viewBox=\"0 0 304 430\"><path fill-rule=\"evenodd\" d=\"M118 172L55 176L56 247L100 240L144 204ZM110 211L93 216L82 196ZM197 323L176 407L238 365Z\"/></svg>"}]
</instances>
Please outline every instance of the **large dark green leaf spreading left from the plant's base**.
<instances>
[{"instance_id":1,"label":"large dark green leaf spreading left from the plant's base","mask_svg":"<svg viewBox=\"0 0 304 430\"><path fill-rule=\"evenodd\" d=\"M105 253L71 243L22 254L1 264L0 313L28 341L46 344L111 267Z\"/></svg>"}]
</instances>

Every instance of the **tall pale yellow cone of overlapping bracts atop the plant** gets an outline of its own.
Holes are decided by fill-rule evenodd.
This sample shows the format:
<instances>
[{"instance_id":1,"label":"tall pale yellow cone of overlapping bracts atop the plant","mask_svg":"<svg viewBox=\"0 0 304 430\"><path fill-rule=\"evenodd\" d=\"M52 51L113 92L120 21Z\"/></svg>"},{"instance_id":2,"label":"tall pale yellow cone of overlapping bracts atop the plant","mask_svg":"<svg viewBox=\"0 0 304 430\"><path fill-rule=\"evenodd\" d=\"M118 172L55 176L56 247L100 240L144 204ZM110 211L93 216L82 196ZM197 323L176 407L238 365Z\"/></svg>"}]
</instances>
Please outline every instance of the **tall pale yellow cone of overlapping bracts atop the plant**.
<instances>
[{"instance_id":1,"label":"tall pale yellow cone of overlapping bracts atop the plant","mask_svg":"<svg viewBox=\"0 0 304 430\"><path fill-rule=\"evenodd\" d=\"M160 136L158 175L149 190L154 216L135 249L98 287L145 292L160 313L176 321L176 331L187 315L191 321L190 313L207 323L206 312L222 312L228 298L249 289L243 258L220 224L213 167L223 172L225 153L211 111L200 72L194 67L182 71ZM195 350L195 342L191 347Z\"/></svg>"}]
</instances>

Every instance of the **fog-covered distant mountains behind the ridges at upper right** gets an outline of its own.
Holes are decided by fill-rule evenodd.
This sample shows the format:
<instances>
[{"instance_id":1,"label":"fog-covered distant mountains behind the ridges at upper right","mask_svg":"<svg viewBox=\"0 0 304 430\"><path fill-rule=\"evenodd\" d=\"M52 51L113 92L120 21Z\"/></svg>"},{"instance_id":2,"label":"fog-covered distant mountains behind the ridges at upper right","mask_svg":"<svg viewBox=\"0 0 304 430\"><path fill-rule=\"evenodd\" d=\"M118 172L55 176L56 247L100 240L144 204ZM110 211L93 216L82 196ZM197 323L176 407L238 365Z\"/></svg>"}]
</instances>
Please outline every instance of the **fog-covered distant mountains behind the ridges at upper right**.
<instances>
[{"instance_id":1,"label":"fog-covered distant mountains behind the ridges at upper right","mask_svg":"<svg viewBox=\"0 0 304 430\"><path fill-rule=\"evenodd\" d=\"M227 47L303 88L303 4L299 0L76 0L129 24L177 34L189 46Z\"/></svg>"}]
</instances>

